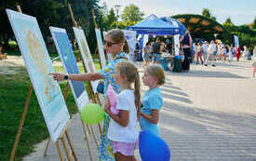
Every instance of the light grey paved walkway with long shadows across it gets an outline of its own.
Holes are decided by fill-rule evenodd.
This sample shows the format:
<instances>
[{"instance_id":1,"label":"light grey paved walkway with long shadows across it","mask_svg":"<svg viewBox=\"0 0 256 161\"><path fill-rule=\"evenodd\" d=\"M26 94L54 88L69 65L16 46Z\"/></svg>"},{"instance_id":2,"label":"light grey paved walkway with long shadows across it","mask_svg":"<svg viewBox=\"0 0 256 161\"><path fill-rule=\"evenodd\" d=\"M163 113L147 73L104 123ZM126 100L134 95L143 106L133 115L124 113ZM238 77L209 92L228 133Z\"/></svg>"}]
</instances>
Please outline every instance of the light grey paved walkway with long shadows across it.
<instances>
[{"instance_id":1,"label":"light grey paved walkway with long shadows across it","mask_svg":"<svg viewBox=\"0 0 256 161\"><path fill-rule=\"evenodd\" d=\"M256 78L252 78L251 63L192 65L190 73L167 73L160 127L172 161L256 160ZM79 160L89 161L77 115L69 132ZM24 160L59 160L52 144L47 157L43 156L45 144L38 144L36 152ZM97 148L93 141L90 144L96 160Z\"/></svg>"}]
</instances>

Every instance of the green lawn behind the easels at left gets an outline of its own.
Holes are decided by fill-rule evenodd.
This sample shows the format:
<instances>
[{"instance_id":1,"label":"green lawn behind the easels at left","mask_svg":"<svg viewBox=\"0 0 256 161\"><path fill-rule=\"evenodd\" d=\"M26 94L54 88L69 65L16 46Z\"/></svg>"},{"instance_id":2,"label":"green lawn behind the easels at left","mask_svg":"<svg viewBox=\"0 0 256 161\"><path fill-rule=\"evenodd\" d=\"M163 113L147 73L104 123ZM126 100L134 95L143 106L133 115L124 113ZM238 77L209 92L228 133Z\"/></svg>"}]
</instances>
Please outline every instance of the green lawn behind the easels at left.
<instances>
[{"instance_id":1,"label":"green lawn behind the easels at left","mask_svg":"<svg viewBox=\"0 0 256 161\"><path fill-rule=\"evenodd\" d=\"M80 72L84 73L81 62L78 63L78 67ZM55 66L54 68L56 72L64 73L62 66ZM96 62L96 68L100 69L99 62ZM0 160L9 160L31 85L25 67L8 67L8 69L15 70L16 74L0 75ZM88 88L88 84L85 84ZM62 91L64 91L65 85L65 82L61 83ZM77 113L77 106L71 90L69 90L66 104L71 115ZM20 161L24 155L33 152L34 144L46 140L48 136L43 114L33 92L15 160Z\"/></svg>"}]
</instances>

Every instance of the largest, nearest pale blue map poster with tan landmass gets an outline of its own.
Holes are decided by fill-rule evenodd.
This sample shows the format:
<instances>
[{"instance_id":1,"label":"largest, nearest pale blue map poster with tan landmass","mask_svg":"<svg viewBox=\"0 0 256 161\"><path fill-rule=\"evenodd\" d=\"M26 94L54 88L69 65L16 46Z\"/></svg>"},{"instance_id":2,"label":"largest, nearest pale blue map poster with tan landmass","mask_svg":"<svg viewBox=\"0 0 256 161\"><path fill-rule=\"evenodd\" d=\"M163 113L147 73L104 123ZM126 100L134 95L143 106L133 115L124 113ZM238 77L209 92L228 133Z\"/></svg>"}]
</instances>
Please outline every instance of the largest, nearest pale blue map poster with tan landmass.
<instances>
[{"instance_id":1,"label":"largest, nearest pale blue map poster with tan landmass","mask_svg":"<svg viewBox=\"0 0 256 161\"><path fill-rule=\"evenodd\" d=\"M34 17L7 9L7 16L20 47L23 60L44 115L50 138L60 137L70 115L54 73L47 47Z\"/></svg>"}]
</instances>

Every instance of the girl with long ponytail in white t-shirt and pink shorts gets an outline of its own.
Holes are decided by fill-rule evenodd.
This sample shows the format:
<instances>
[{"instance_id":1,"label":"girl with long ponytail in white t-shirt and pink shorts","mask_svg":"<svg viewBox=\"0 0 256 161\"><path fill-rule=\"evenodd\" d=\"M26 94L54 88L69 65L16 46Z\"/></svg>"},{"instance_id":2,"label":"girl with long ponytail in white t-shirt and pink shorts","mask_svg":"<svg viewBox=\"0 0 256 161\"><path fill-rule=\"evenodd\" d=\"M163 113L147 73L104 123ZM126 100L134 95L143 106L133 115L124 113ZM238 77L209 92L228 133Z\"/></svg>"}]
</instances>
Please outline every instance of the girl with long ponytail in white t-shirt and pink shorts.
<instances>
[{"instance_id":1,"label":"girl with long ponytail in white t-shirt and pink shorts","mask_svg":"<svg viewBox=\"0 0 256 161\"><path fill-rule=\"evenodd\" d=\"M113 141L115 161L136 161L134 150L138 148L139 131L137 129L140 114L140 75L138 69L130 61L118 62L115 66L115 83L121 87L116 97L118 114L110 110L106 101L104 110L110 115L107 137ZM131 84L134 83L134 89Z\"/></svg>"}]
</instances>

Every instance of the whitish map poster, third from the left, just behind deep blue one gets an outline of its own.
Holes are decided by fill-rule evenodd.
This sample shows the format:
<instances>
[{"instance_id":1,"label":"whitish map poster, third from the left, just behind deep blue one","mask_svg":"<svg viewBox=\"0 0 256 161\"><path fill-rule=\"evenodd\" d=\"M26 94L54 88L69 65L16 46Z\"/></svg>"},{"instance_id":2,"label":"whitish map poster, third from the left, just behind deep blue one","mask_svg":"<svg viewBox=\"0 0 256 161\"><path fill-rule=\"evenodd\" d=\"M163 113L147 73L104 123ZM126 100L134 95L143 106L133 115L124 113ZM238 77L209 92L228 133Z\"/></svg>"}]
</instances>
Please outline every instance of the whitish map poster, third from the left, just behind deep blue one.
<instances>
[{"instance_id":1,"label":"whitish map poster, third from the left, just behind deep blue one","mask_svg":"<svg viewBox=\"0 0 256 161\"><path fill-rule=\"evenodd\" d=\"M90 55L88 41L84 31L81 29L77 29L75 27L73 29L74 29L74 36L78 43L78 47L82 55L82 59L85 62L88 73L96 73L97 71L96 71L94 62L92 60L92 57ZM97 92L97 85L98 85L98 81L91 81L91 86L95 93Z\"/></svg>"}]
</instances>

